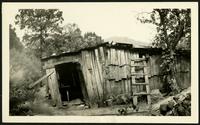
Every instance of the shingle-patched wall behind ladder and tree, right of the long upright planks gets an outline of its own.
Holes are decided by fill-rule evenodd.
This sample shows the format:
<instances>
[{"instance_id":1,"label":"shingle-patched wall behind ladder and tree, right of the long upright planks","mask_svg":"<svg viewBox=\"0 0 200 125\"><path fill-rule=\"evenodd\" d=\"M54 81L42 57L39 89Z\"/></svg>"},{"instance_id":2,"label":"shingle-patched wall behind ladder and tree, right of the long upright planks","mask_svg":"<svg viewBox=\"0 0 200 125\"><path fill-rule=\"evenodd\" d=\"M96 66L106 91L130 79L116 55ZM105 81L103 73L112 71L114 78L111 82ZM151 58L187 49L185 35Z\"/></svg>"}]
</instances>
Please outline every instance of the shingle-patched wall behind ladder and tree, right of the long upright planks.
<instances>
[{"instance_id":1,"label":"shingle-patched wall behind ladder and tree, right of the long upright planks","mask_svg":"<svg viewBox=\"0 0 200 125\"><path fill-rule=\"evenodd\" d=\"M105 98L119 94L131 94L130 80L130 60L139 58L139 52L117 48L107 48L106 58L106 88ZM143 53L145 54L145 53ZM148 53L146 53L148 54ZM164 83L161 76L161 55L151 55L147 61L147 70L149 74L150 89L163 89ZM136 64L139 65L139 62ZM187 88L191 85L191 63L190 59L185 56L177 56L177 82L181 88ZM143 72L138 69L138 72ZM138 77L140 80L141 77ZM137 86L137 90L144 90L144 86Z\"/></svg>"}]
</instances>

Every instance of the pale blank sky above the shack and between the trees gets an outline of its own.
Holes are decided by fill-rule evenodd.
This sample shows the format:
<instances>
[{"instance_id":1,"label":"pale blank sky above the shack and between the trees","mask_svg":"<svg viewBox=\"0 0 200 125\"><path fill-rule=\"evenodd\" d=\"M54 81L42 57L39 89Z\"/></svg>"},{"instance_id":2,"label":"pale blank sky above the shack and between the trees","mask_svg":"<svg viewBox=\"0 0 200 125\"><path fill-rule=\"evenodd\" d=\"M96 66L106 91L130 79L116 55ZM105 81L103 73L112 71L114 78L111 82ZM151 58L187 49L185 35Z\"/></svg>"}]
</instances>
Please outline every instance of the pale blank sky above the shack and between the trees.
<instances>
[{"instance_id":1,"label":"pale blank sky above the shack and between the trees","mask_svg":"<svg viewBox=\"0 0 200 125\"><path fill-rule=\"evenodd\" d=\"M47 8L55 7L49 6ZM68 3L56 6L56 8L63 11L63 25L76 23L81 29L82 34L85 32L95 32L103 39L117 36L150 43L156 33L154 25L143 24L137 20L138 14L151 12L152 8L144 9L143 7L134 6L134 4L90 3ZM17 11L18 8L9 10L12 25L14 25L14 17ZM17 29L17 35L22 38L23 31L19 30L17 26L15 27Z\"/></svg>"}]
</instances>

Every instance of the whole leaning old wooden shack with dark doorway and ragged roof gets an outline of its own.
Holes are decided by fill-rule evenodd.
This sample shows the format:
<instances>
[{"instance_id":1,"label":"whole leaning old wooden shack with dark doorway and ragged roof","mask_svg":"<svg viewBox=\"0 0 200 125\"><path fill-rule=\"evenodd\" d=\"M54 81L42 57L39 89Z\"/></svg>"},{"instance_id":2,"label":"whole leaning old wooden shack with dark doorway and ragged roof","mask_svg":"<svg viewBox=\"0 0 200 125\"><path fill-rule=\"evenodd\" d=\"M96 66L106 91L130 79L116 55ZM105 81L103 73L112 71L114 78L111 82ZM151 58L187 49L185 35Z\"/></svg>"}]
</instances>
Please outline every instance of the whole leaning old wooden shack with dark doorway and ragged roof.
<instances>
[{"instance_id":1,"label":"whole leaning old wooden shack with dark doorway and ragged roof","mask_svg":"<svg viewBox=\"0 0 200 125\"><path fill-rule=\"evenodd\" d=\"M99 103L109 96L129 94L132 91L132 60L146 58L150 90L162 90L160 64L161 49L134 48L132 44L103 43L81 49L42 58L43 68L48 76L48 86L53 101L61 105L62 101L76 98L90 103ZM137 65L137 62L134 63ZM134 71L140 71L140 68ZM191 82L190 51L179 51L176 61L177 81L186 88ZM136 80L142 81L142 75ZM144 86L137 86L143 90Z\"/></svg>"}]
</instances>

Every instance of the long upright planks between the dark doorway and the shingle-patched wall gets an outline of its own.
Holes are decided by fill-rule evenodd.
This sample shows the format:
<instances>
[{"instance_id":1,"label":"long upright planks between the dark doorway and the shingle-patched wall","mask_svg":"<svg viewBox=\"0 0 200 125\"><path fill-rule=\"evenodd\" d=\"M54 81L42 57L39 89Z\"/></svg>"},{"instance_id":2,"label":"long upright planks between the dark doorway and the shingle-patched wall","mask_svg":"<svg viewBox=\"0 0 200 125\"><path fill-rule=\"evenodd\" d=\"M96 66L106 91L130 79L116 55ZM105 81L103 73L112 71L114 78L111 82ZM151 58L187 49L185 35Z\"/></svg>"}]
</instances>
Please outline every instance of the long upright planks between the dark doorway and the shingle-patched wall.
<instances>
[{"instance_id":1,"label":"long upright planks between the dark doorway and the shingle-patched wall","mask_svg":"<svg viewBox=\"0 0 200 125\"><path fill-rule=\"evenodd\" d=\"M103 100L103 64L105 62L103 48L81 52L81 67L90 102Z\"/></svg>"}]
</instances>

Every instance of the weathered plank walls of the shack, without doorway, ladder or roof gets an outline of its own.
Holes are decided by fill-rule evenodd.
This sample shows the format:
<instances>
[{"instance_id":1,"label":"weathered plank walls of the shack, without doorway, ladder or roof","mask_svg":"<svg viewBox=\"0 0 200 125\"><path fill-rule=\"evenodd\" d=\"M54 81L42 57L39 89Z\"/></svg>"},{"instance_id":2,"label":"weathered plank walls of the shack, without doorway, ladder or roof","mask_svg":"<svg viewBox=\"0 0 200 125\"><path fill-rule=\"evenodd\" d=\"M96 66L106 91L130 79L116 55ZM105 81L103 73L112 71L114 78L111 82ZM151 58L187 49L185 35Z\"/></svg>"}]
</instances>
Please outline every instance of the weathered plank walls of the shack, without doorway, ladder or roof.
<instances>
[{"instance_id":1,"label":"weathered plank walls of the shack, without doorway, ladder or roof","mask_svg":"<svg viewBox=\"0 0 200 125\"><path fill-rule=\"evenodd\" d=\"M55 65L67 62L78 62L83 73L85 85L90 102L98 103L110 96L119 94L131 94L131 59L139 58L139 52L123 48L98 47L90 50L82 50L75 55L66 55L59 58L49 59L45 62L44 68L47 72ZM160 55L150 55L147 61L149 71L149 83L151 89L162 89L163 83L160 76ZM182 88L191 85L191 63L190 59L184 56L177 58L177 81ZM139 69L138 69L139 70ZM142 71L141 71L142 72ZM53 88L57 87L56 77L49 79L51 93L58 93ZM52 83L54 82L54 83ZM144 87L137 86L143 90ZM56 98L52 94L54 98ZM56 100L56 99L55 99Z\"/></svg>"}]
</instances>

